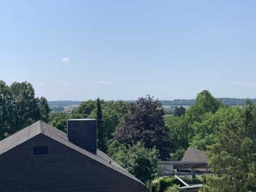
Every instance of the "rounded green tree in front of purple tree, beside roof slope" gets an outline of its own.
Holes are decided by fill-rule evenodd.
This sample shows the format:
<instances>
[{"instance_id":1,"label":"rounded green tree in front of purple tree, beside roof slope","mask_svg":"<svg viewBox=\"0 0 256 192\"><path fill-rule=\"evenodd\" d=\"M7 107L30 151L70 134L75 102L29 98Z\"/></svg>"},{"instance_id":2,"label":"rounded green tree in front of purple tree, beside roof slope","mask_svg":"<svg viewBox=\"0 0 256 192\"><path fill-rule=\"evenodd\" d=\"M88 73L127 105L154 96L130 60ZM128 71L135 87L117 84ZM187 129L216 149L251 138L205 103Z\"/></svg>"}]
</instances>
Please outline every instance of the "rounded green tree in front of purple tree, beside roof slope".
<instances>
[{"instance_id":1,"label":"rounded green tree in front of purple tree, beside roof slope","mask_svg":"<svg viewBox=\"0 0 256 192\"><path fill-rule=\"evenodd\" d=\"M141 180L153 180L159 173L159 153L156 148L148 149L144 143L138 141L134 146L125 147L124 144L113 140L108 149L108 154L125 170Z\"/></svg>"}]
</instances>

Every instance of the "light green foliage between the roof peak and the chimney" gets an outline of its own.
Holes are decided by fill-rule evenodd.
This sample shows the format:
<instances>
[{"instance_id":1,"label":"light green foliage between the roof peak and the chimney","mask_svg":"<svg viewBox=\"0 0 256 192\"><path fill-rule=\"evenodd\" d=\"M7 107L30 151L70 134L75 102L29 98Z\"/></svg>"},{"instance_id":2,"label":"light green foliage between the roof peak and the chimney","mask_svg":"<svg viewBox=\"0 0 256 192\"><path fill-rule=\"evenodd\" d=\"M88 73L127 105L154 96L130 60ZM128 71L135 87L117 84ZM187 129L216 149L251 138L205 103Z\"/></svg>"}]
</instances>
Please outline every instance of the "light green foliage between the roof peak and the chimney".
<instances>
[{"instance_id":1,"label":"light green foliage between the roof peak and the chimney","mask_svg":"<svg viewBox=\"0 0 256 192\"><path fill-rule=\"evenodd\" d=\"M53 127L60 129L61 131L67 132L67 120L69 114L65 112L51 113L49 116L49 122Z\"/></svg>"}]
</instances>

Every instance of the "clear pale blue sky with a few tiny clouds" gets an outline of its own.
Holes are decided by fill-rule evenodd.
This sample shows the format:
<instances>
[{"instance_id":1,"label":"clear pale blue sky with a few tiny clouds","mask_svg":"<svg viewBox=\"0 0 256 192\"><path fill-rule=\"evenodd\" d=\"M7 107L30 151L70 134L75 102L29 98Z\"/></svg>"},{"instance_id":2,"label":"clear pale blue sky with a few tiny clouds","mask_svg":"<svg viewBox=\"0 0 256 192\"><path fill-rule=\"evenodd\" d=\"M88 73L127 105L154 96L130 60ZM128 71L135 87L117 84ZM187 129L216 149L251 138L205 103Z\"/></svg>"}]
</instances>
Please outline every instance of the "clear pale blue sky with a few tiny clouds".
<instances>
[{"instance_id":1,"label":"clear pale blue sky with a few tiny clouds","mask_svg":"<svg viewBox=\"0 0 256 192\"><path fill-rule=\"evenodd\" d=\"M0 79L47 100L256 97L256 1L1 1Z\"/></svg>"}]
</instances>

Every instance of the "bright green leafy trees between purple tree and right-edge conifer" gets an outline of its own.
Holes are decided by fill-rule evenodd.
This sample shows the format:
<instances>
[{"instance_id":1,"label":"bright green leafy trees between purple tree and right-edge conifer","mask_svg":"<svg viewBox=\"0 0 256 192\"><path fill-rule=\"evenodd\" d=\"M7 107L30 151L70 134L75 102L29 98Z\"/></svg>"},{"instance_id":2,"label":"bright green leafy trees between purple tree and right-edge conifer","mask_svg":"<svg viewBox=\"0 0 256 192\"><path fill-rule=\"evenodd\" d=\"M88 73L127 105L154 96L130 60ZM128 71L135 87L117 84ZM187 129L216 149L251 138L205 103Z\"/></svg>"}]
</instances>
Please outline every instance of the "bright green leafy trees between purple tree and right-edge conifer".
<instances>
[{"instance_id":1,"label":"bright green leafy trees between purple tree and right-edge conifer","mask_svg":"<svg viewBox=\"0 0 256 192\"><path fill-rule=\"evenodd\" d=\"M189 147L206 150L208 145L216 143L218 126L225 119L220 111L223 104L203 90L198 93L196 102L182 116L166 116L165 124L169 129L169 139L173 143L171 159L180 160ZM177 108L178 109L178 108Z\"/></svg>"}]
</instances>

